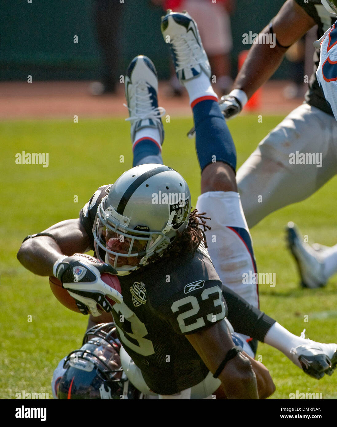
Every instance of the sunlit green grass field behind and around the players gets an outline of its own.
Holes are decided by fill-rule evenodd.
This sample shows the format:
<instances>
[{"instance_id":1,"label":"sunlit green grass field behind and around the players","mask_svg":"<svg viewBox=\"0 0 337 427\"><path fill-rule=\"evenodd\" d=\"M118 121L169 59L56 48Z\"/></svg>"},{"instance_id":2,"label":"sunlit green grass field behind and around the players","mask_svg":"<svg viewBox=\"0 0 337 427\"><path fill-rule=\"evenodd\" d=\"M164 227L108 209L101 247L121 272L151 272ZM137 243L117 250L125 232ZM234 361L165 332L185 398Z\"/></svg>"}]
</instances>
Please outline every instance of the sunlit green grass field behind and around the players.
<instances>
[{"instance_id":1,"label":"sunlit green grass field behind and around the players","mask_svg":"<svg viewBox=\"0 0 337 427\"><path fill-rule=\"evenodd\" d=\"M258 123L256 116L246 116L229 122L239 165L281 118L264 116L263 123ZM195 205L199 165L193 142L185 137L191 125L192 119L184 118L165 124L163 158L188 181ZM0 123L0 137L0 398L15 399L22 390L48 392L51 398L53 370L62 357L80 347L87 317L64 308L50 291L48 279L26 271L16 253L27 234L76 218L97 187L132 167L129 124L123 120L9 121ZM23 150L49 153L49 166L15 164L15 154ZM331 246L337 242L336 211L334 178L306 201L273 213L252 229L258 269L276 273L275 287L260 287L261 309L293 333L299 335L305 328L307 337L321 342L337 340L336 276L326 288L300 289L285 248L284 225L293 220L308 234L309 243ZM308 322L304 322L306 315ZM288 399L296 390L337 398L337 373L317 381L267 345L259 345L258 355L276 385L272 398Z\"/></svg>"}]
</instances>

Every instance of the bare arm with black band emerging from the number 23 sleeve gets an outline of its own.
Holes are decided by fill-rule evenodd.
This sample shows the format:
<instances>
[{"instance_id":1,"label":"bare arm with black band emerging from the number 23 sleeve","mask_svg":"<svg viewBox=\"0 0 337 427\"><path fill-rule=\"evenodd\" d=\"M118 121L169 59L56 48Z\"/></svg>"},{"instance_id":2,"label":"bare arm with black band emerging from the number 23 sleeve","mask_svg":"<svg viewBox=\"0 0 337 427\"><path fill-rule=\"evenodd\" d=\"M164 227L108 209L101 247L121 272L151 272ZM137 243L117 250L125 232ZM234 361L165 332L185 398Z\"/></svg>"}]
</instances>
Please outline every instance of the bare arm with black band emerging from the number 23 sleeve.
<instances>
[{"instance_id":1,"label":"bare arm with black band emerging from the number 23 sleeve","mask_svg":"<svg viewBox=\"0 0 337 427\"><path fill-rule=\"evenodd\" d=\"M208 369L214 374L234 347L225 321L186 335ZM249 360L241 353L229 360L218 377L229 399L258 399L257 382Z\"/></svg>"}]
</instances>

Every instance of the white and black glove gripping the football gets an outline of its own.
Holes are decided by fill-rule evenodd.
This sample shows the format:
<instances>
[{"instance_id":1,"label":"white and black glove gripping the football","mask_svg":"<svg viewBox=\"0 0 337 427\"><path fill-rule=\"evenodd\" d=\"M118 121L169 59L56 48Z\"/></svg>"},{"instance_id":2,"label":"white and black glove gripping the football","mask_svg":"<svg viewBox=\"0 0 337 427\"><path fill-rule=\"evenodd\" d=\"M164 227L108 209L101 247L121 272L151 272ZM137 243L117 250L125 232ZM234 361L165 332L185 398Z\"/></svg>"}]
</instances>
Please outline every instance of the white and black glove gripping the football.
<instances>
[{"instance_id":1,"label":"white and black glove gripping the football","mask_svg":"<svg viewBox=\"0 0 337 427\"><path fill-rule=\"evenodd\" d=\"M54 264L53 274L76 300L81 313L88 314L89 310L96 317L102 314L102 311L97 309L97 304L106 312L112 309L112 304L106 296L117 303L123 302L123 296L101 279L101 274L116 274L116 270L96 259L91 261L90 258L81 255L79 260L76 254L62 257Z\"/></svg>"}]
</instances>

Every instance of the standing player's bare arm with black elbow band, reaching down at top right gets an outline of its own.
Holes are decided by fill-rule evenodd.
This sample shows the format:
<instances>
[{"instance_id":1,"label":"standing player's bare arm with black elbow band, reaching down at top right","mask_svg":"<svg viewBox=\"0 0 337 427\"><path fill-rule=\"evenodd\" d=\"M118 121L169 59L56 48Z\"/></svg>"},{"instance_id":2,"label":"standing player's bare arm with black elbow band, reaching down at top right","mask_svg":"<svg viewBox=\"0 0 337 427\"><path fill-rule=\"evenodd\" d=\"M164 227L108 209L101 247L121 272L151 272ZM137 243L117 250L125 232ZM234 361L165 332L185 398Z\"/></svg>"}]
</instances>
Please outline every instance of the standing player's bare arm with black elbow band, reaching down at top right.
<instances>
[{"instance_id":1,"label":"standing player's bare arm with black elbow band, reaching down at top right","mask_svg":"<svg viewBox=\"0 0 337 427\"><path fill-rule=\"evenodd\" d=\"M278 69L287 47L315 25L314 20L294 0L287 0L272 22L278 43L273 48L270 44L254 44L233 85L233 89L244 91L248 98ZM268 34L269 31L267 25L261 33Z\"/></svg>"}]
</instances>

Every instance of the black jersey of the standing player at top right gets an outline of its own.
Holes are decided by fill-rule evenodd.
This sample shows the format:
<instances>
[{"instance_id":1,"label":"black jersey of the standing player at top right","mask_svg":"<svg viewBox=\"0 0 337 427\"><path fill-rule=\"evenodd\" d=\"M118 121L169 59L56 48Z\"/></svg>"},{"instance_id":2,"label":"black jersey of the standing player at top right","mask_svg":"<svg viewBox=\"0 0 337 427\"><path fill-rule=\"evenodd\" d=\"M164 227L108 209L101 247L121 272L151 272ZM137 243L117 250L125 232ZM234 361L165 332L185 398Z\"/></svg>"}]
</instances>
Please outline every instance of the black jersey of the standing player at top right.
<instances>
[{"instance_id":1,"label":"black jersey of the standing player at top right","mask_svg":"<svg viewBox=\"0 0 337 427\"><path fill-rule=\"evenodd\" d=\"M317 24L317 40L327 31L331 25L336 21L336 16L329 13L322 5L320 0L295 0L299 6L301 6L305 12L315 21ZM325 113L333 115L330 105L326 102L322 89L319 86L316 77L316 70L319 64L319 49L315 49L314 53L314 73L311 75L309 81L309 88L305 94L305 101L309 105L313 105L316 108L324 111Z\"/></svg>"}]
</instances>

